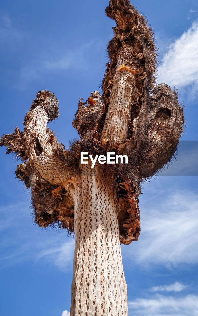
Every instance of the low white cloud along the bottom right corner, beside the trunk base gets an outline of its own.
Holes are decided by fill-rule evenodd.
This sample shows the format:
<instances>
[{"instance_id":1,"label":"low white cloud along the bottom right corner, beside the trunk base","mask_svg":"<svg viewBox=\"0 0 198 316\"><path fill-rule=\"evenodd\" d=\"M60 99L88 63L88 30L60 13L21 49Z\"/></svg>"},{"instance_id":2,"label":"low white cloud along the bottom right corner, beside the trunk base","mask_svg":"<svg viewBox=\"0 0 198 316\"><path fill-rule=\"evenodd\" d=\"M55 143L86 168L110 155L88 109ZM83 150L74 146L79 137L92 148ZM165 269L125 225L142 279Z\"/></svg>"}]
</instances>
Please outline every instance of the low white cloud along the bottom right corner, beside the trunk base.
<instances>
[{"instance_id":1,"label":"low white cloud along the bottom right corner, beside the trunk base","mask_svg":"<svg viewBox=\"0 0 198 316\"><path fill-rule=\"evenodd\" d=\"M187 295L178 298L155 295L154 298L129 301L128 307L131 316L197 316L198 297ZM132 313L130 313L131 309Z\"/></svg>"}]
</instances>

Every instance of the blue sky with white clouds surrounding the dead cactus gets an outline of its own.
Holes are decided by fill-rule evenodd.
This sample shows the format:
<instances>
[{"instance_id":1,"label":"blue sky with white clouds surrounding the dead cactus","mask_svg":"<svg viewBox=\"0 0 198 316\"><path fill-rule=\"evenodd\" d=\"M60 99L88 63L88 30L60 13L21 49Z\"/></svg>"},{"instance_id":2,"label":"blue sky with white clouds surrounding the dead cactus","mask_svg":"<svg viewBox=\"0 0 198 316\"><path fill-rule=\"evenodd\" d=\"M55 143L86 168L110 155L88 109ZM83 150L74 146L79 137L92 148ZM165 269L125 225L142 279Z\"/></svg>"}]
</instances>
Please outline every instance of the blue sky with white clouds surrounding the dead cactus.
<instances>
[{"instance_id":1,"label":"blue sky with white clouds surrounding the dead cactus","mask_svg":"<svg viewBox=\"0 0 198 316\"><path fill-rule=\"evenodd\" d=\"M184 101L182 140L197 141L197 1L134 1L147 15L159 48L159 83ZM39 90L57 96L50 128L69 146L78 99L99 87L114 21L108 1L11 1L1 5L0 134L23 129ZM3 316L67 316L74 243L67 232L33 225L30 194L15 179L16 162L1 149L1 298ZM185 158L185 157L184 157ZM188 158L185 158L188 159ZM140 196L139 241L122 246L130 316L198 314L197 176L154 177Z\"/></svg>"}]
</instances>

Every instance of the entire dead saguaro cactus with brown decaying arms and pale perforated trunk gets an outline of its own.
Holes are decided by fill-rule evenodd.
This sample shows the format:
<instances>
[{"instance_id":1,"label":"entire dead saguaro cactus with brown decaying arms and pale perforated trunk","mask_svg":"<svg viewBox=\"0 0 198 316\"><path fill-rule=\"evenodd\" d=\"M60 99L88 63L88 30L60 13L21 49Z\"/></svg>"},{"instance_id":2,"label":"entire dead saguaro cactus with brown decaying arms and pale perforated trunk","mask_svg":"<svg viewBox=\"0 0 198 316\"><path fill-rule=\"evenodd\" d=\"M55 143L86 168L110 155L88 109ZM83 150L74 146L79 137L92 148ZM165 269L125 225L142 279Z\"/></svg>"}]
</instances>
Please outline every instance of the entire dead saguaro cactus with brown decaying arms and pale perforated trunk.
<instances>
[{"instance_id":1,"label":"entire dead saguaro cactus with brown decaying arms and pale perforated trunk","mask_svg":"<svg viewBox=\"0 0 198 316\"><path fill-rule=\"evenodd\" d=\"M145 18L128 0L110 0L106 15L117 24L110 62L103 95L79 99L73 126L81 140L65 150L47 128L59 112L46 90L26 113L24 131L1 140L22 158L16 177L32 190L35 222L75 233L71 316L128 314L120 243L138 240L139 184L170 160L183 130L176 91L155 85L156 49ZM91 168L81 164L81 152L127 155L128 164Z\"/></svg>"}]
</instances>

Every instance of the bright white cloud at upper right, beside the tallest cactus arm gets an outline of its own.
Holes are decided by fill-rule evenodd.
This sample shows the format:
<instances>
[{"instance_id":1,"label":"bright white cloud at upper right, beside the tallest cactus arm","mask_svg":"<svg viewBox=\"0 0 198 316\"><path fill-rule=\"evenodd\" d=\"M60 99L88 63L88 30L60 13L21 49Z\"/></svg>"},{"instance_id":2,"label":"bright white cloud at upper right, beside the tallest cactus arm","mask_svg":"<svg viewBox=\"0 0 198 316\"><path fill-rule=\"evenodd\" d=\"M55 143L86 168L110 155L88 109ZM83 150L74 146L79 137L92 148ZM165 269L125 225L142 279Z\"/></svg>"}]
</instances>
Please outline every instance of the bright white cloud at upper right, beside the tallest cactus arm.
<instances>
[{"instance_id":1,"label":"bright white cloud at upper right, beside the tallest cactus arm","mask_svg":"<svg viewBox=\"0 0 198 316\"><path fill-rule=\"evenodd\" d=\"M198 22L194 22L181 37L177 38L163 56L159 66L159 83L184 88L198 87Z\"/></svg>"}]
</instances>

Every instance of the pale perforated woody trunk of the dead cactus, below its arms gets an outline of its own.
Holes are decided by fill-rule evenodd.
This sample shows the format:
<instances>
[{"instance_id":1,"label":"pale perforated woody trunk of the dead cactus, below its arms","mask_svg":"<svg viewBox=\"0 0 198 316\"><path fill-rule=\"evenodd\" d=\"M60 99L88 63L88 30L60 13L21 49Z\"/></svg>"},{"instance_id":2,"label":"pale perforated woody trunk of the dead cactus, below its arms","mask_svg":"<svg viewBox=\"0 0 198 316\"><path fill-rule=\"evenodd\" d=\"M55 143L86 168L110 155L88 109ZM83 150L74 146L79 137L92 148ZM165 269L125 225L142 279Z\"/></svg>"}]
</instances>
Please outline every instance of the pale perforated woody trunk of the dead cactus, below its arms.
<instances>
[{"instance_id":1,"label":"pale perforated woody trunk of the dead cactus, below its arms","mask_svg":"<svg viewBox=\"0 0 198 316\"><path fill-rule=\"evenodd\" d=\"M83 165L81 165L83 166ZM81 167L70 188L75 252L70 316L128 315L113 186L99 167Z\"/></svg>"}]
</instances>

